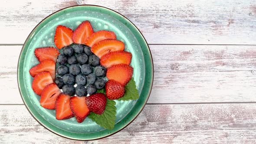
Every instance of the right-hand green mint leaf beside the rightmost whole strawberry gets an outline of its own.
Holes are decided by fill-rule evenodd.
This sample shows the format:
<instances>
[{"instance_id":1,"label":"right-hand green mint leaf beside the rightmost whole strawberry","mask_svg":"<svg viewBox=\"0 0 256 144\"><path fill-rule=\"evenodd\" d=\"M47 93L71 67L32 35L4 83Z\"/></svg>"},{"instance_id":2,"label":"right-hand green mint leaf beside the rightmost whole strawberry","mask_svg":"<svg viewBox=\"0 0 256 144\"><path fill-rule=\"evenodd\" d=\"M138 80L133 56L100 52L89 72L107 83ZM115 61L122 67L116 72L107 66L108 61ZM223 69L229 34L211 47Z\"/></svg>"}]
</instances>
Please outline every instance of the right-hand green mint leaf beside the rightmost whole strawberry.
<instances>
[{"instance_id":1,"label":"right-hand green mint leaf beside the rightmost whole strawberry","mask_svg":"<svg viewBox=\"0 0 256 144\"><path fill-rule=\"evenodd\" d=\"M125 85L125 95L121 98L118 98L118 101L127 101L127 100L134 100L139 98L139 92L136 88L136 84L133 78Z\"/></svg>"}]
</instances>

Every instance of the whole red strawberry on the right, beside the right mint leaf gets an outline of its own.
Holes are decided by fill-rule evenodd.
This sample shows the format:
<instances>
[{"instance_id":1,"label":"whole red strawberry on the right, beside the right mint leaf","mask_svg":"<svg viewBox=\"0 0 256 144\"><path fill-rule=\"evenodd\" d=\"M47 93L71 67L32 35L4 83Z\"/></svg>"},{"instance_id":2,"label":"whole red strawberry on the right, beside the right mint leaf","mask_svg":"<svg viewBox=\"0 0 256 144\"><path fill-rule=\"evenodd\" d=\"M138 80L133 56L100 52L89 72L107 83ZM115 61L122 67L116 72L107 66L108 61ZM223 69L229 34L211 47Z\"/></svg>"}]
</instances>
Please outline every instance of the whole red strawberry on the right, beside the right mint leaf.
<instances>
[{"instance_id":1,"label":"whole red strawberry on the right, beside the right mint leaf","mask_svg":"<svg viewBox=\"0 0 256 144\"><path fill-rule=\"evenodd\" d=\"M105 84L106 96L108 99L118 99L125 94L125 88L115 80L108 80Z\"/></svg>"}]
</instances>

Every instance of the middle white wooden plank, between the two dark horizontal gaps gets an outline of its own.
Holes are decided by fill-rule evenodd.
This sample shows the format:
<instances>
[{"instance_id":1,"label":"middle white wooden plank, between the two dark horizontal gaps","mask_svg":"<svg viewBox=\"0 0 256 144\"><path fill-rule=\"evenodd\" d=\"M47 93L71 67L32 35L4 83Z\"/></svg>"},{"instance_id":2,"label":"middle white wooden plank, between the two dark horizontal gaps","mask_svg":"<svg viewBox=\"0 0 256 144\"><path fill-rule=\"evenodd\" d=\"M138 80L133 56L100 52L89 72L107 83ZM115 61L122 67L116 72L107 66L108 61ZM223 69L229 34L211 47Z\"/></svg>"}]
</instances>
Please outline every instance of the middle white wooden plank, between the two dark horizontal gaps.
<instances>
[{"instance_id":1,"label":"middle white wooden plank, between the two dark horizontal gaps","mask_svg":"<svg viewBox=\"0 0 256 144\"><path fill-rule=\"evenodd\" d=\"M0 104L23 104L16 82L22 46L0 46ZM150 46L154 85L148 103L256 101L255 46Z\"/></svg>"}]
</instances>

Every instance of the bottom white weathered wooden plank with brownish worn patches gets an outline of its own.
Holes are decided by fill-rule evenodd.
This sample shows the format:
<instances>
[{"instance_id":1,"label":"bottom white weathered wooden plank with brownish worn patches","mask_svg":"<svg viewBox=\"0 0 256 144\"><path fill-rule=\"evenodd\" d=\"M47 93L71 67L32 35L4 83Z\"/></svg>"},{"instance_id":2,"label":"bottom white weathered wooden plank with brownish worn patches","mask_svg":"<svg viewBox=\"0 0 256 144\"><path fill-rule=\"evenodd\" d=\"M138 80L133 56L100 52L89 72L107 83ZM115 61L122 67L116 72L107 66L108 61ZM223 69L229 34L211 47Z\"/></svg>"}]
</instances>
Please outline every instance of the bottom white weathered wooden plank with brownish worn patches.
<instances>
[{"instance_id":1,"label":"bottom white weathered wooden plank with brownish worn patches","mask_svg":"<svg viewBox=\"0 0 256 144\"><path fill-rule=\"evenodd\" d=\"M84 144L253 144L255 118L256 104L146 105L124 130ZM0 136L0 143L82 144L47 131L24 105L0 106Z\"/></svg>"}]
</instances>

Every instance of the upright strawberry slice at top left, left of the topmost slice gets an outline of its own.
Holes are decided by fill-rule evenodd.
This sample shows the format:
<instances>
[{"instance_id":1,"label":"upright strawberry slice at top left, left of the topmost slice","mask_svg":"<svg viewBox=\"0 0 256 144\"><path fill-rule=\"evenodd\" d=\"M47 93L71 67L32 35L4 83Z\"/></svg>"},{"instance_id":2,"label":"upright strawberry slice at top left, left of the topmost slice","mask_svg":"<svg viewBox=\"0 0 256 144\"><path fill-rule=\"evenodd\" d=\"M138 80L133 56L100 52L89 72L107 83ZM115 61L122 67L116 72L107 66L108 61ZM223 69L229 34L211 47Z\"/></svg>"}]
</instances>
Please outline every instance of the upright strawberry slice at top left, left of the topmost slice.
<instances>
[{"instance_id":1,"label":"upright strawberry slice at top left, left of the topmost slice","mask_svg":"<svg viewBox=\"0 0 256 144\"><path fill-rule=\"evenodd\" d=\"M58 49L64 46L68 46L73 43L72 41L73 31L66 26L59 25L56 27L54 43Z\"/></svg>"}]
</instances>

